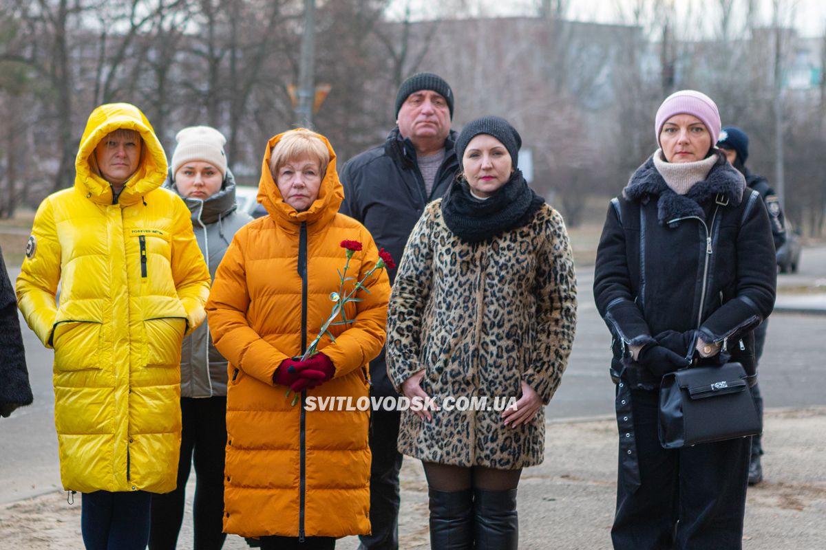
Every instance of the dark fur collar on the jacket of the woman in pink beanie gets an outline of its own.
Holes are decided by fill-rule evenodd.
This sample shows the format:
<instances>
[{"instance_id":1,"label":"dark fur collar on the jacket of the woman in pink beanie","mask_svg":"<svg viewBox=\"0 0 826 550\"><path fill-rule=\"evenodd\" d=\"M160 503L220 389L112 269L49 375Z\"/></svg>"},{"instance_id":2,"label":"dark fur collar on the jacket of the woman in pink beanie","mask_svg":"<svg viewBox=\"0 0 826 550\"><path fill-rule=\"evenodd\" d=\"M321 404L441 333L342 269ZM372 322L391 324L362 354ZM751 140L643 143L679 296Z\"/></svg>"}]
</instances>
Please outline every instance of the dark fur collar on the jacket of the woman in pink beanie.
<instances>
[{"instance_id":1,"label":"dark fur collar on the jacket of the woman in pink beanie","mask_svg":"<svg viewBox=\"0 0 826 550\"><path fill-rule=\"evenodd\" d=\"M738 206L743 200L746 180L743 174L726 161L723 153L714 154L718 155L718 159L714 167L711 167L709 175L705 180L695 183L686 195L677 195L667 186L654 165L652 155L631 176L623 190L623 196L627 200L640 200L644 195L659 197L657 219L662 224L686 216L697 216L705 220L705 211L700 204L714 200L718 195L723 195L732 206Z\"/></svg>"}]
</instances>

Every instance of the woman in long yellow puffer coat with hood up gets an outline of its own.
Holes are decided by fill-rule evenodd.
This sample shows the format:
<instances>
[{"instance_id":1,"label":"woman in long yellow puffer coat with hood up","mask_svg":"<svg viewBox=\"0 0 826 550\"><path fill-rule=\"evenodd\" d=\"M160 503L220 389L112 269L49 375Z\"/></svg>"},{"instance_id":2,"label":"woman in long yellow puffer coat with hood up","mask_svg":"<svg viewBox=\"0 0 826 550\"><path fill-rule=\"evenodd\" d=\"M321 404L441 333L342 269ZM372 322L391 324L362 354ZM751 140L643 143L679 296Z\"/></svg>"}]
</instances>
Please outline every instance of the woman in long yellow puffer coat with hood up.
<instances>
[{"instance_id":1,"label":"woman in long yellow puffer coat with hood up","mask_svg":"<svg viewBox=\"0 0 826 550\"><path fill-rule=\"evenodd\" d=\"M60 477L83 492L86 548L145 548L150 494L175 488L181 341L210 275L135 106L93 110L75 169L37 209L17 304L55 349Z\"/></svg>"}]
</instances>

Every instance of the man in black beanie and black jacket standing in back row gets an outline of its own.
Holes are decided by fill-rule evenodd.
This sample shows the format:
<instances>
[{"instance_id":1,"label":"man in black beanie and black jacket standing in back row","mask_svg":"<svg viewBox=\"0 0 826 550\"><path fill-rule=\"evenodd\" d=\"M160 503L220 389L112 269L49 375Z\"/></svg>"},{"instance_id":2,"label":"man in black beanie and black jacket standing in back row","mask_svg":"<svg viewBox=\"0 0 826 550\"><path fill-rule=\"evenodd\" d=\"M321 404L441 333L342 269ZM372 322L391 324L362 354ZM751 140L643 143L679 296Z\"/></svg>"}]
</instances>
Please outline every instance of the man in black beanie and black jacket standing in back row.
<instances>
[{"instance_id":1,"label":"man in black beanie and black jacket standing in back row","mask_svg":"<svg viewBox=\"0 0 826 550\"><path fill-rule=\"evenodd\" d=\"M341 212L363 223L377 245L397 262L425 205L444 195L458 172L452 118L453 91L449 84L435 74L417 73L402 82L396 93L396 128L384 144L351 158L341 169ZM392 284L396 269L388 269L387 275ZM370 361L370 377L373 395L396 395L387 378L384 350ZM399 411L373 411L373 534L360 537L360 550L399 548L399 418Z\"/></svg>"}]
</instances>

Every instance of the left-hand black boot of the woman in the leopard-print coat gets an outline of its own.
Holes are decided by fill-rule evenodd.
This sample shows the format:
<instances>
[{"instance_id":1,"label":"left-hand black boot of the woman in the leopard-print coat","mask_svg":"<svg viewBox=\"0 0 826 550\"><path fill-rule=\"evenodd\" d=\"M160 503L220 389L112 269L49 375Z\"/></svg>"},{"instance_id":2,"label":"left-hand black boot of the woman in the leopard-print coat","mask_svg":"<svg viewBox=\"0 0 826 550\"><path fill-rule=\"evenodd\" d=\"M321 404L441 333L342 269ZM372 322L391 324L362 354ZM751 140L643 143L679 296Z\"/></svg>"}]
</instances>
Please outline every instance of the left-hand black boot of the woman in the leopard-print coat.
<instances>
[{"instance_id":1,"label":"left-hand black boot of the woman in the leopard-print coat","mask_svg":"<svg viewBox=\"0 0 826 550\"><path fill-rule=\"evenodd\" d=\"M430 489L430 548L472 550L473 490Z\"/></svg>"}]
</instances>

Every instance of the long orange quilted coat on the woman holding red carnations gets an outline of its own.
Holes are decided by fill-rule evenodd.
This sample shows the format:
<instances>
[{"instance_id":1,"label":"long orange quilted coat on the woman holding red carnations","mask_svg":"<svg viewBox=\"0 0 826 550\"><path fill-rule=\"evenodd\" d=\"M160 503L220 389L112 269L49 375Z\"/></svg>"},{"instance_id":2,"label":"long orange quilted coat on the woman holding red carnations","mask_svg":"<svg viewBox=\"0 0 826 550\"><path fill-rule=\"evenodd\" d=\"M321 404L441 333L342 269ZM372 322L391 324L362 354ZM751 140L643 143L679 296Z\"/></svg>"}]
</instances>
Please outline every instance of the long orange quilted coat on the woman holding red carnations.
<instances>
[{"instance_id":1,"label":"long orange quilted coat on the woman holding red carnations","mask_svg":"<svg viewBox=\"0 0 826 550\"><path fill-rule=\"evenodd\" d=\"M235 233L216 272L207 316L212 340L230 362L226 411L224 530L244 536L343 537L368 534L370 449L368 411L307 411L308 396L368 395L369 360L382 349L390 284L377 270L349 303L349 325L321 340L335 365L330 381L291 406L273 383L282 360L301 355L330 315L346 256L343 240L363 243L348 275L361 280L378 261L373 237L338 214L344 191L335 152L318 199L305 212L286 204L269 172L270 139L258 199L269 215ZM352 288L354 280L347 282Z\"/></svg>"}]
</instances>

